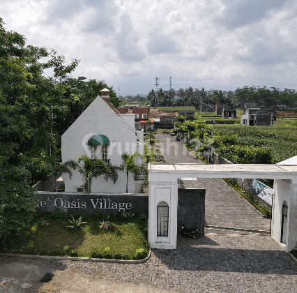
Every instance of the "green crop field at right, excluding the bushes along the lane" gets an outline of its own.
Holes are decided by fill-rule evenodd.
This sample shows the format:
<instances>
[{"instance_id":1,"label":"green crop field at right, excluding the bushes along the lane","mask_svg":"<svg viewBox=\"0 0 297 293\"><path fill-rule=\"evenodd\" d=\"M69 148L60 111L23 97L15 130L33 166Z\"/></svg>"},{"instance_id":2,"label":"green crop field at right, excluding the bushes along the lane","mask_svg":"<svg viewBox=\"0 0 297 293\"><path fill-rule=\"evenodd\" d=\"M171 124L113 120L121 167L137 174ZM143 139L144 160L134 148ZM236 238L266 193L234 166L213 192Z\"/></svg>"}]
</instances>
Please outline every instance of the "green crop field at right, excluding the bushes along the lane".
<instances>
[{"instance_id":1,"label":"green crop field at right, excluding the bushes along the lane","mask_svg":"<svg viewBox=\"0 0 297 293\"><path fill-rule=\"evenodd\" d=\"M237 144L265 147L271 151L272 163L297 156L296 126L217 125L215 135L236 135Z\"/></svg>"}]
</instances>

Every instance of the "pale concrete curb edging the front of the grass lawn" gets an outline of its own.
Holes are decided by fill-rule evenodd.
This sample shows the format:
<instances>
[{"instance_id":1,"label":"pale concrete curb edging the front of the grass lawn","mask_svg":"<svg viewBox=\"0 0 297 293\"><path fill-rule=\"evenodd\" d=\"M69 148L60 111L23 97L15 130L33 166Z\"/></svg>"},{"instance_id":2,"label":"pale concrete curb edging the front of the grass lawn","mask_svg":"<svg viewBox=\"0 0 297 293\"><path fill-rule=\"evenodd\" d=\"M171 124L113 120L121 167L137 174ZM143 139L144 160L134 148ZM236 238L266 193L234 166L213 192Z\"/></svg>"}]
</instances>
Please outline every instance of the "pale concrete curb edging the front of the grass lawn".
<instances>
[{"instance_id":1,"label":"pale concrete curb edging the front of the grass lawn","mask_svg":"<svg viewBox=\"0 0 297 293\"><path fill-rule=\"evenodd\" d=\"M59 257L59 256L50 256L50 255L17 255L14 253L0 253L0 255L7 255L20 258L33 258L40 260L70 260L76 262L109 262L109 263L118 263L118 264L143 264L151 258L151 248L148 251L148 256L143 260L106 260L102 258L89 258L89 257Z\"/></svg>"}]
</instances>

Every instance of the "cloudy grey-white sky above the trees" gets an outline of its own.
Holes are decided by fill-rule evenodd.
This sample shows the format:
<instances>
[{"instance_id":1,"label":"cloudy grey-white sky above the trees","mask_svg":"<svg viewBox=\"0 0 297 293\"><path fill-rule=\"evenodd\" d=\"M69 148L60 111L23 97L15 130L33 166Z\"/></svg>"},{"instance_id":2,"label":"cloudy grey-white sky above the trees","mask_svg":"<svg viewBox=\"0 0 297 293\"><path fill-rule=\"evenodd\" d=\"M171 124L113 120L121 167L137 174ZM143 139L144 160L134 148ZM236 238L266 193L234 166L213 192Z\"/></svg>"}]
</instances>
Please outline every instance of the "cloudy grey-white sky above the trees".
<instances>
[{"instance_id":1,"label":"cloudy grey-white sky above the trees","mask_svg":"<svg viewBox=\"0 0 297 293\"><path fill-rule=\"evenodd\" d=\"M159 87L296 89L296 0L0 0L7 30L121 96Z\"/></svg>"}]
</instances>

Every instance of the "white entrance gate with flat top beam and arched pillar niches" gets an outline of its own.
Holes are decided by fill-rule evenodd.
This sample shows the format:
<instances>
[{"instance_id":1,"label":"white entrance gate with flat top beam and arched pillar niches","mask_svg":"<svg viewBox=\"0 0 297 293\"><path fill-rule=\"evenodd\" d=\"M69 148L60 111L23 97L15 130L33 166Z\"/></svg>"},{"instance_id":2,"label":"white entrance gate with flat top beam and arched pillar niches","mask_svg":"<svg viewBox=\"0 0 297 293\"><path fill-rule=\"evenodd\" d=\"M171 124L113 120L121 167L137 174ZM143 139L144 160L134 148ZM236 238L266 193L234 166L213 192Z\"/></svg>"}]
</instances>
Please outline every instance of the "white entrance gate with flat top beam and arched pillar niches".
<instances>
[{"instance_id":1,"label":"white entrance gate with flat top beam and arched pillar niches","mask_svg":"<svg viewBox=\"0 0 297 293\"><path fill-rule=\"evenodd\" d=\"M297 241L297 166L148 164L148 241L151 248L176 249L178 178L274 179L271 236L285 251ZM286 192L284 192L286 190ZM287 202L286 234L283 235L282 204ZM167 234L158 234L158 205L168 206ZM282 239L284 238L285 239Z\"/></svg>"}]
</instances>

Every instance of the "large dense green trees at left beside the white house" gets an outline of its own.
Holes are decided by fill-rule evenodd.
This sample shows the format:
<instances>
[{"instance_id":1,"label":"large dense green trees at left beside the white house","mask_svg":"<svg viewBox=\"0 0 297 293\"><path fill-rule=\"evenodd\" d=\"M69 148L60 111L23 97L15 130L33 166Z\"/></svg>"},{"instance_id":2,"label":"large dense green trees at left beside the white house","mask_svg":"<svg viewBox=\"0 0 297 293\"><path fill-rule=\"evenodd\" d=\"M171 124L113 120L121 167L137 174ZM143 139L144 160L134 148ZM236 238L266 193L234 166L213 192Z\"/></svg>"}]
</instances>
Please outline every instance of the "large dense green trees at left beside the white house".
<instances>
[{"instance_id":1,"label":"large dense green trees at left beside the white house","mask_svg":"<svg viewBox=\"0 0 297 293\"><path fill-rule=\"evenodd\" d=\"M68 64L45 47L7 31L0 18L0 234L28 225L38 195L31 186L64 170L61 135L107 87L104 80L73 77L79 59ZM53 75L45 76L51 69ZM118 103L118 104L117 104Z\"/></svg>"}]
</instances>

